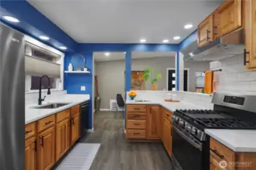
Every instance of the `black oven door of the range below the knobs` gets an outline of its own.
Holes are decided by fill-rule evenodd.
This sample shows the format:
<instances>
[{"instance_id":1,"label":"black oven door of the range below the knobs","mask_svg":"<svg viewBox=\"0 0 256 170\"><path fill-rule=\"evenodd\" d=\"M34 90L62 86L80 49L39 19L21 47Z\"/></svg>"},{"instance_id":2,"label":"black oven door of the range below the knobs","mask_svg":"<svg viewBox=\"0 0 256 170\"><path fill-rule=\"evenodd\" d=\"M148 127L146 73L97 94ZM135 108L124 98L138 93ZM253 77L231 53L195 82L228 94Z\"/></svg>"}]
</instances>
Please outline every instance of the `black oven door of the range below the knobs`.
<instances>
[{"instance_id":1,"label":"black oven door of the range below the knobs","mask_svg":"<svg viewBox=\"0 0 256 170\"><path fill-rule=\"evenodd\" d=\"M173 127L172 156L177 169L205 170L203 168L203 152L200 141L189 134Z\"/></svg>"}]
</instances>

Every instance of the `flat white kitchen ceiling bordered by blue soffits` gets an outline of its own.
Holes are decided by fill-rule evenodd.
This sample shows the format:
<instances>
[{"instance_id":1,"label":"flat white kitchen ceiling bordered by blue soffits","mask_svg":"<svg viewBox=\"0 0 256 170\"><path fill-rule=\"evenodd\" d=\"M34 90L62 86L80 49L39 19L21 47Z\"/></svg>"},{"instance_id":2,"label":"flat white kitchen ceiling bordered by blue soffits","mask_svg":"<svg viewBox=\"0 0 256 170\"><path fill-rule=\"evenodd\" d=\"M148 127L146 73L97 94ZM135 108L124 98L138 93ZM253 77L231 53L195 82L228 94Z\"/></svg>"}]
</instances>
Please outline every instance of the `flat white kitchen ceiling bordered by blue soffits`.
<instances>
[{"instance_id":1,"label":"flat white kitchen ceiling bordered by blue soffits","mask_svg":"<svg viewBox=\"0 0 256 170\"><path fill-rule=\"evenodd\" d=\"M179 43L223 0L27 1L77 42ZM184 29L187 23L194 27ZM181 39L174 41L173 36Z\"/></svg>"}]
</instances>

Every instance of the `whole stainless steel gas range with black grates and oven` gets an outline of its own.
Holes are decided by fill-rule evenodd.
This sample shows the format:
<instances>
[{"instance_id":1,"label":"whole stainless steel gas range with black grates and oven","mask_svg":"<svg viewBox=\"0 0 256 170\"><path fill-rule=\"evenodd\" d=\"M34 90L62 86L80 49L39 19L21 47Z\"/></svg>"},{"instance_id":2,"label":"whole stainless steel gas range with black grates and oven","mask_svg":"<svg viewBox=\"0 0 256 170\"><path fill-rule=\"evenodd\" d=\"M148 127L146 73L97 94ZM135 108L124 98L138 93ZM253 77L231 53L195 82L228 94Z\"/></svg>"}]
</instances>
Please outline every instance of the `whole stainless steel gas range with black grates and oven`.
<instances>
[{"instance_id":1,"label":"whole stainless steel gas range with black grates and oven","mask_svg":"<svg viewBox=\"0 0 256 170\"><path fill-rule=\"evenodd\" d=\"M256 129L256 96L215 93L212 103L213 110L176 110L173 114L172 170L210 169L206 128Z\"/></svg>"}]
</instances>

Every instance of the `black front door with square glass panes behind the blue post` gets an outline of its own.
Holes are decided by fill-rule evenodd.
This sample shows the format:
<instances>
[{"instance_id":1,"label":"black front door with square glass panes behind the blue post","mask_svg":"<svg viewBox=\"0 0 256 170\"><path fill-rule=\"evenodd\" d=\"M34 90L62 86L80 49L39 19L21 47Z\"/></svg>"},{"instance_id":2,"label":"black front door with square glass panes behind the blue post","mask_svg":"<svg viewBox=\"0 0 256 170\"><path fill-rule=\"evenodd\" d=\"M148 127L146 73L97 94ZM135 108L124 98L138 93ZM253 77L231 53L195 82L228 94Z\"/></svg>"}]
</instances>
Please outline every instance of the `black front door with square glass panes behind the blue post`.
<instances>
[{"instance_id":1,"label":"black front door with square glass panes behind the blue post","mask_svg":"<svg viewBox=\"0 0 256 170\"><path fill-rule=\"evenodd\" d=\"M166 89L168 91L176 90L176 73L175 68L167 68L166 73ZM184 69L183 91L189 88L189 69Z\"/></svg>"}]
</instances>

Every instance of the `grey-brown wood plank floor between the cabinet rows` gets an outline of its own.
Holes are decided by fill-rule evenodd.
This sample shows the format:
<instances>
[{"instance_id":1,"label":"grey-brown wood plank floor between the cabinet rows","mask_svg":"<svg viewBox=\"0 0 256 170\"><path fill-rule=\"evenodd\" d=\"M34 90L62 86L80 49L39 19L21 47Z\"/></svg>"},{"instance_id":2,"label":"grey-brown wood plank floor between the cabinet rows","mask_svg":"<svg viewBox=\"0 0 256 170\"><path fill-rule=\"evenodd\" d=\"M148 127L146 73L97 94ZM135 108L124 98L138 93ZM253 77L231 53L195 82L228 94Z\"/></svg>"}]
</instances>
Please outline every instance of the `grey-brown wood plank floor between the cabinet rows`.
<instances>
[{"instance_id":1,"label":"grey-brown wood plank floor between the cabinet rows","mask_svg":"<svg viewBox=\"0 0 256 170\"><path fill-rule=\"evenodd\" d=\"M82 143L100 143L90 170L171 170L171 160L161 143L130 143L125 140L120 112L94 116L94 132Z\"/></svg>"}]
</instances>

